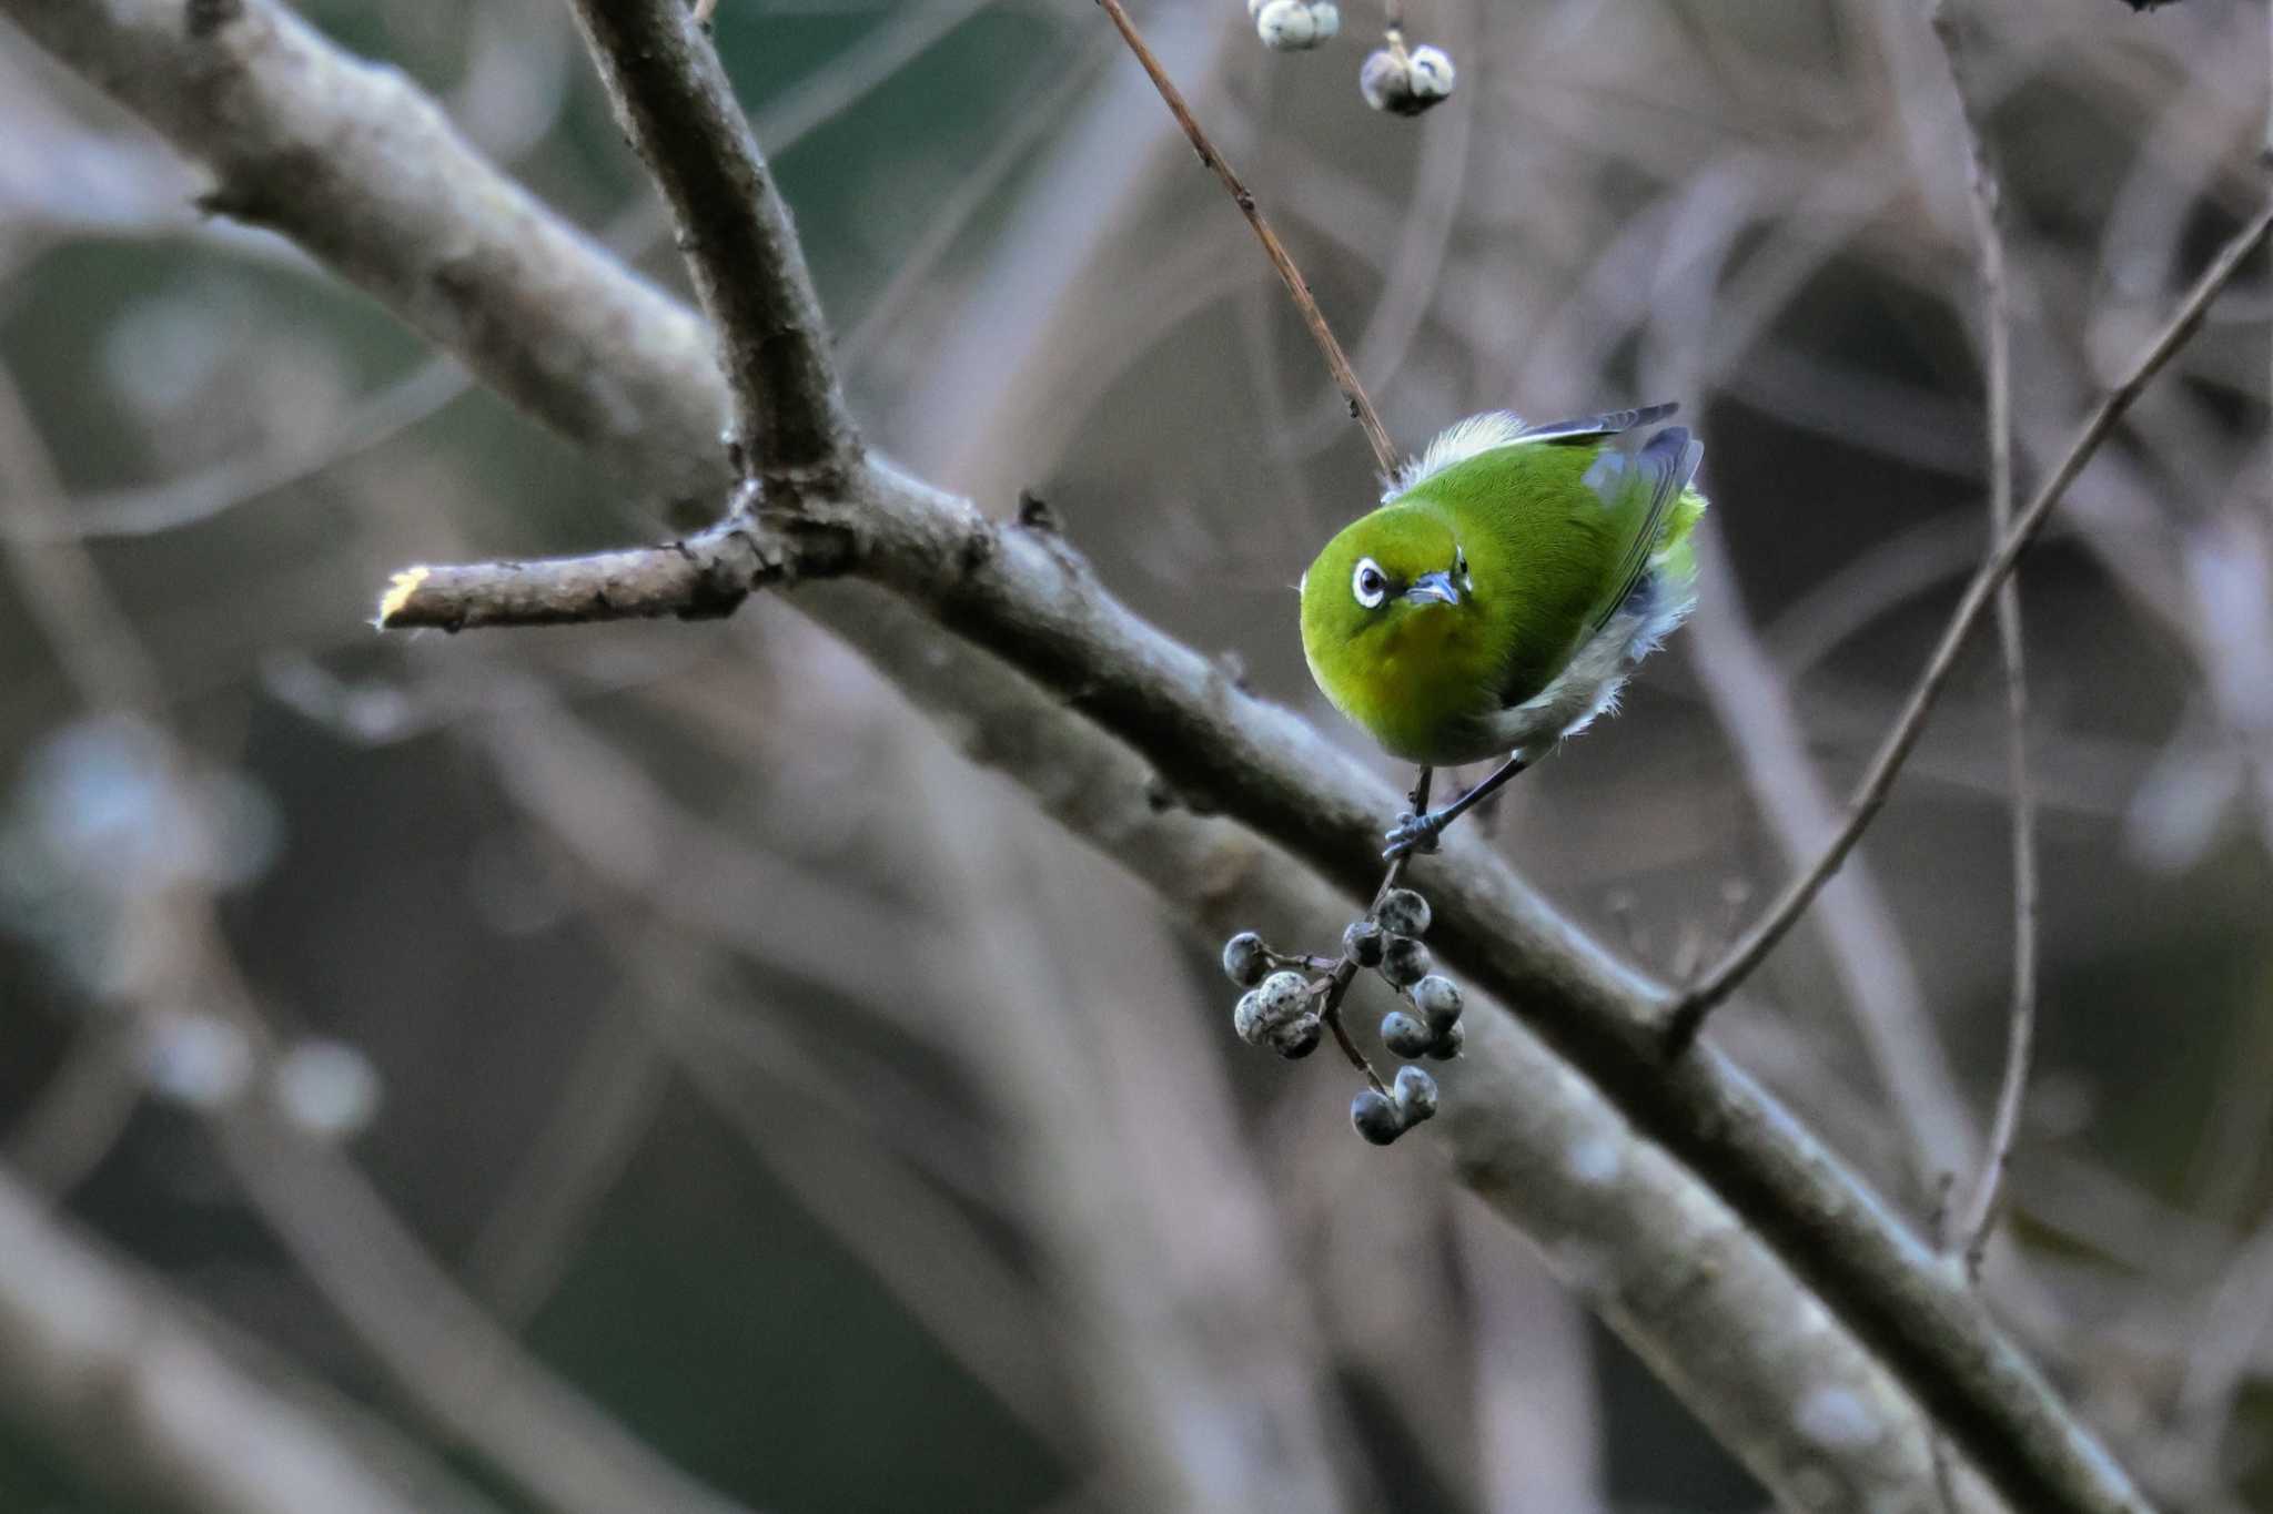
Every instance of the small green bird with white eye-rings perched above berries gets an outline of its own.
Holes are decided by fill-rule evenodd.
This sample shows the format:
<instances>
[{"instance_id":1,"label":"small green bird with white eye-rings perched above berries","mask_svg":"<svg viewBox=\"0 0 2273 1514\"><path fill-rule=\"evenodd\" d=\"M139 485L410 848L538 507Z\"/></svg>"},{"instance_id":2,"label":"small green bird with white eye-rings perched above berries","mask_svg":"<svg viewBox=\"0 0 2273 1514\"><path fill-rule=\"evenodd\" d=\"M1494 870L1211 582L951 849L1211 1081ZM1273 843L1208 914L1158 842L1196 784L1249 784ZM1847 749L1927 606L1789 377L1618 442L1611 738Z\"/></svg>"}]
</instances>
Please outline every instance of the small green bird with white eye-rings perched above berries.
<instances>
[{"instance_id":1,"label":"small green bird with white eye-rings perched above berries","mask_svg":"<svg viewBox=\"0 0 2273 1514\"><path fill-rule=\"evenodd\" d=\"M1471 415L1402 468L1302 574L1302 656L1343 715L1430 767L1507 760L1452 804L1400 815L1384 858L1430 851L1462 813L1596 715L1696 606L1691 488L1705 445L1677 406L1552 424Z\"/></svg>"}]
</instances>

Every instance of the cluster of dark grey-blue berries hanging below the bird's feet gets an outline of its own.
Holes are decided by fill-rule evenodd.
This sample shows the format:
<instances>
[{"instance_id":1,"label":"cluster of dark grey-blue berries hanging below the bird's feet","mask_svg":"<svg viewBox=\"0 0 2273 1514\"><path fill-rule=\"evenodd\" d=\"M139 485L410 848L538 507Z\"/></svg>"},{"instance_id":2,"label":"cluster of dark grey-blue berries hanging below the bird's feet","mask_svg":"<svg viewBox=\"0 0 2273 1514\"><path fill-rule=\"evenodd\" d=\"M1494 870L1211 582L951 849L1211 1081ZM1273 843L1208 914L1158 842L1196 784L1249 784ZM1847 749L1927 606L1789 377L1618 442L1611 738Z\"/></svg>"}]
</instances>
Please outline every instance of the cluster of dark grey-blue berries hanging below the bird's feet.
<instances>
[{"instance_id":1,"label":"cluster of dark grey-blue berries hanging below the bird's feet","mask_svg":"<svg viewBox=\"0 0 2273 1514\"><path fill-rule=\"evenodd\" d=\"M1232 1028L1250 1046L1268 1046L1282 1058L1307 1058L1332 1028L1366 1085L1350 1103L1350 1124L1375 1146L1412 1130L1437 1112L1437 1080L1421 1067L1400 1067L1384 1087L1341 1028L1341 999L1359 969L1382 976L1405 1008L1382 1017L1382 1044L1398 1058L1459 1055L1459 985L1432 972L1421 937L1430 926L1427 899L1409 888L1391 888L1373 910L1341 933L1339 958L1273 951L1264 937L1241 931L1223 944L1223 972L1248 990L1232 1012Z\"/></svg>"}]
</instances>

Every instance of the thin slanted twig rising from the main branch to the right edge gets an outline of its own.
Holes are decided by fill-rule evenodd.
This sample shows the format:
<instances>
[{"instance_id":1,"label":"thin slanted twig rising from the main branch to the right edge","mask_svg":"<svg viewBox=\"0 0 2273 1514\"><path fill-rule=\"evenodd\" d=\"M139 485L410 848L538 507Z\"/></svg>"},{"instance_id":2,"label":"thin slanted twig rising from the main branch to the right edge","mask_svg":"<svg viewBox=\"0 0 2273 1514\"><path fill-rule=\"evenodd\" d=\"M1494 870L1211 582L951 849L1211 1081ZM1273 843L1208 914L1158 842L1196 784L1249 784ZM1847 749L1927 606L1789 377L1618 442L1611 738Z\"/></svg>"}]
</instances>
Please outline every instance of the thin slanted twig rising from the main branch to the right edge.
<instances>
[{"instance_id":1,"label":"thin slanted twig rising from the main branch to the right edge","mask_svg":"<svg viewBox=\"0 0 2273 1514\"><path fill-rule=\"evenodd\" d=\"M1893 788L1896 774L1903 769L1903 760L1909 749L1916 747L1918 735L1925 731L1925 717L1932 713L1934 701L1941 697L1941 688L1950 681L1950 672L1957 667L1957 654L1964 651L1966 638L1973 626L1980 624L1982 613L1996 597L1998 586L2012 574L2021 554L2037 538L2043 520L2059 504L2062 495L2075 481L2075 474L2084 470L2091 454L2100 449L2100 443L2116 429L2123 413L2146 388L2148 379L2162 372L2162 365L2187 345L2193 329L2200 325L2203 313L2209 302L2216 300L2218 291L2232 281L2241 263L2255 252L2266 232L2273 232L2273 204L2259 209L2241 232L2234 234L2225 250L2209 263L2187 297L2180 302L2171 322L2139 352L2132 361L2123 381L2100 397L2098 409L2078 431L2075 440L2068 445L2066 456L2059 468L2043 481L2037 495L2028 502L2028 508L2014 518L2012 529L1998 540L1989 561L1982 563L1980 572L1966 586L1964 599L1957 602L1957 611L1950 615L1950 624L1941 631L1941 640L1934 645L1932 656L1925 663L1925 672L1918 674L1918 683L1909 690L1909 699L1903 704L1903 713L1896 715L1893 726L1887 731L1887 740L1880 745L1877 754L1871 758L1868 772L1864 772L1862 783L1855 785L1855 797L1848 801L1846 824L1839 835L1832 838L1823 856L1816 858L1814 867L1796 876L1784 885L1784 892L1773 906L1759 917L1759 922L1743 933L1743 937L1730 947L1730 951L1714 965L1705 978L1689 987L1675 1001L1673 1012L1666 1017L1666 1051L1668 1055L1680 1055L1705 1026L1705 1017L1723 1003L1743 978L1759 967L1759 962L1775 949L1784 933L1798 924L1800 915L1807 910L1809 901L1823 888L1823 883L1839 872L1839 863L1846 853L1855 849L1862 840L1864 829L1877 817L1880 806L1887 804L1887 790Z\"/></svg>"}]
</instances>

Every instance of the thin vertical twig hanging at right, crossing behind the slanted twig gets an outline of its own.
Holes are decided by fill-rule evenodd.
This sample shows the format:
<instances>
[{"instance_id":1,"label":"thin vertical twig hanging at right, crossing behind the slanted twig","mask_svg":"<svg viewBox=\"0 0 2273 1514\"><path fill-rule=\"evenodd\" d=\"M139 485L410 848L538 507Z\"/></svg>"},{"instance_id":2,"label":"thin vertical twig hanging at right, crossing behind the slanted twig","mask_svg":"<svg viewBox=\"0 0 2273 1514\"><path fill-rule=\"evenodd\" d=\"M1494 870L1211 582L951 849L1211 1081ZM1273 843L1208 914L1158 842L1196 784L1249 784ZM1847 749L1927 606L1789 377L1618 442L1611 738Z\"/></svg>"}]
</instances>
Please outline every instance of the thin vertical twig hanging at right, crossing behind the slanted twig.
<instances>
[{"instance_id":1,"label":"thin vertical twig hanging at right, crossing behind the slanted twig","mask_svg":"<svg viewBox=\"0 0 2273 1514\"><path fill-rule=\"evenodd\" d=\"M2012 531L2012 306L2005 297L2005 232L1998 225L2003 197L1989 138L1966 86L1964 45L1948 0L1930 0L1928 20L1950 68L1950 93L1966 141L1966 207L1980 259L1982 325L1989 384L1989 531ZM1996 590L1998 651L2005 663L2005 756L2012 783L2012 1008L2005 1028L2005 1076L1980 1174L1950 1230L1966 1276L1978 1278L2012 1142L2028 1096L2028 1067L2037 1035L2037 790L2028 769L2028 663L2021 645L2021 586L2005 579Z\"/></svg>"}]
</instances>

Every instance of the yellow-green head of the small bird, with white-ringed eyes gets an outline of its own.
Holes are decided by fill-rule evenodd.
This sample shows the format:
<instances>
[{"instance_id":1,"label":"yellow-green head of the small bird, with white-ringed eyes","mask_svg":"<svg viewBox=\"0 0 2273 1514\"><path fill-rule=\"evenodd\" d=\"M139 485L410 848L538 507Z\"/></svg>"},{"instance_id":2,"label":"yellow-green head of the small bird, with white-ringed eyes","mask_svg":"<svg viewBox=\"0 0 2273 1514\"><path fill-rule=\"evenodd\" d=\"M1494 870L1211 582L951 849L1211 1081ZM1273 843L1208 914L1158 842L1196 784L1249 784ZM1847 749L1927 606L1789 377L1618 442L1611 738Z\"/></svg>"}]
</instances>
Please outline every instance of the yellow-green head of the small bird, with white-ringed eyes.
<instances>
[{"instance_id":1,"label":"yellow-green head of the small bird, with white-ringed eyes","mask_svg":"<svg viewBox=\"0 0 2273 1514\"><path fill-rule=\"evenodd\" d=\"M1480 647L1475 577L1432 504L1389 504L1350 522L1302 574L1302 654L1327 699L1364 724L1398 670L1466 663Z\"/></svg>"}]
</instances>

